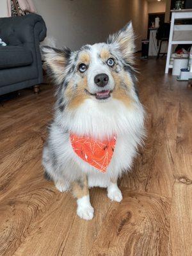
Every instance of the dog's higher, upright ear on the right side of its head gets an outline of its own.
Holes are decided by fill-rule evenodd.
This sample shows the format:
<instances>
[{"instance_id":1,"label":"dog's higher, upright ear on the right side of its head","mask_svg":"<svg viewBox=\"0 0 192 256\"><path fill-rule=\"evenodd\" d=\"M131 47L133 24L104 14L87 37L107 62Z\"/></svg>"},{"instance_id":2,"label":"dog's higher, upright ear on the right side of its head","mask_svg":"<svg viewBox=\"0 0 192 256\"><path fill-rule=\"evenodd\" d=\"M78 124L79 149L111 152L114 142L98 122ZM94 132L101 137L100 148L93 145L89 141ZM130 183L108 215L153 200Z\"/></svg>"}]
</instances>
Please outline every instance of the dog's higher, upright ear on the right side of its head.
<instances>
[{"instance_id":1,"label":"dog's higher, upright ear on the right side of its head","mask_svg":"<svg viewBox=\"0 0 192 256\"><path fill-rule=\"evenodd\" d=\"M130 21L120 31L113 35L109 35L108 44L117 44L118 49L122 52L124 60L128 63L133 63L133 53L135 52L134 38L132 22Z\"/></svg>"}]
</instances>

